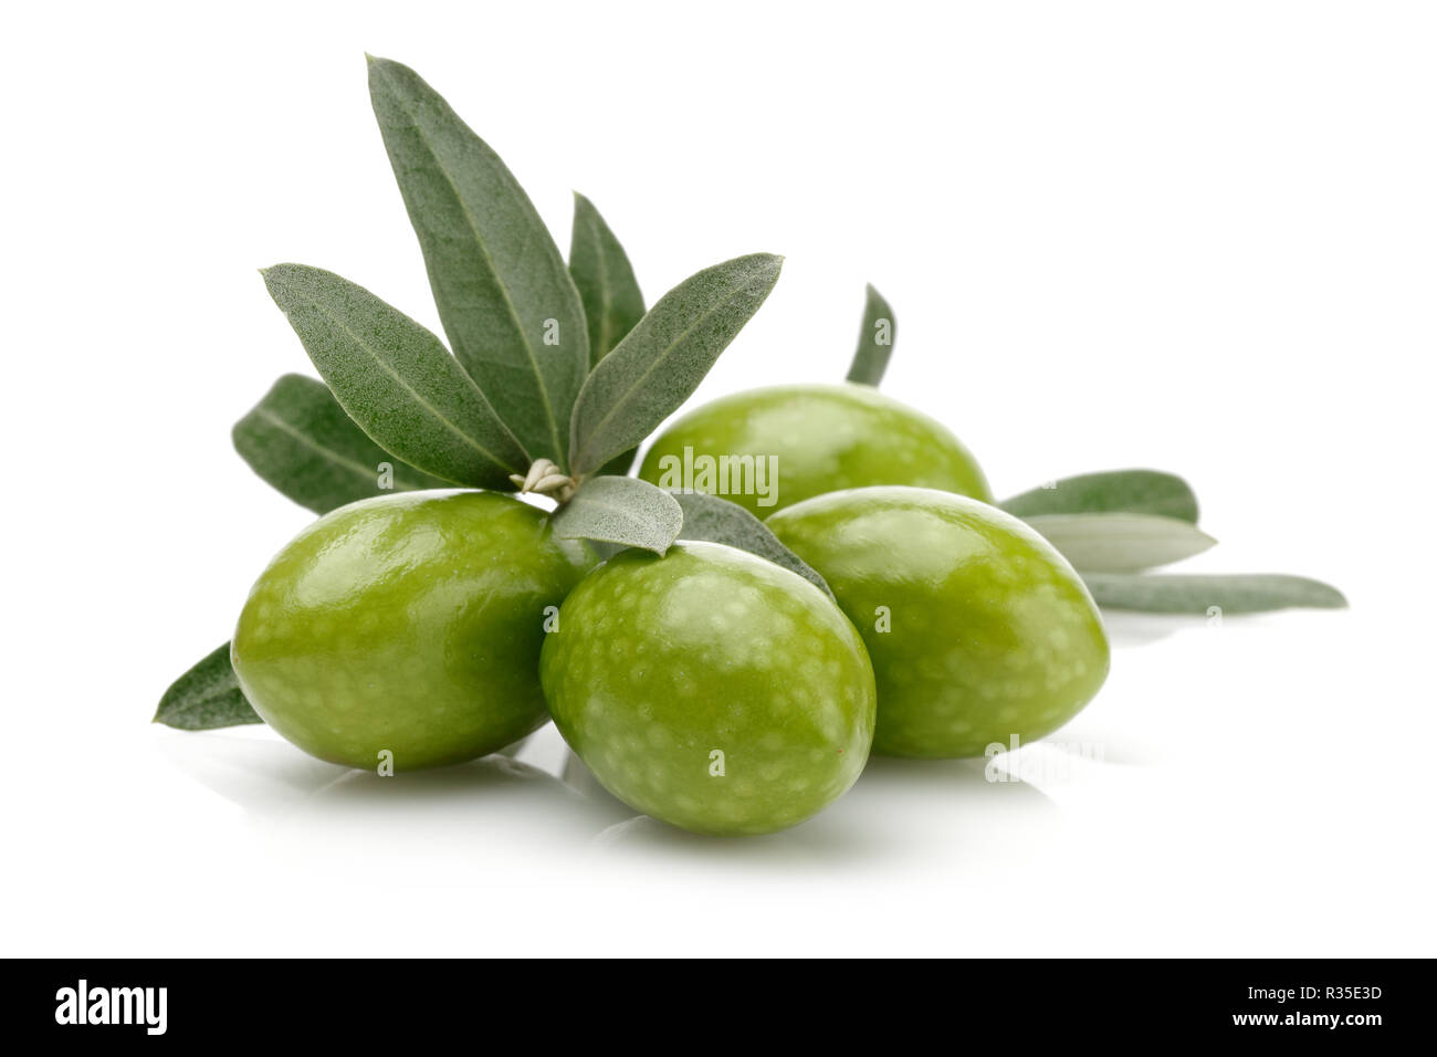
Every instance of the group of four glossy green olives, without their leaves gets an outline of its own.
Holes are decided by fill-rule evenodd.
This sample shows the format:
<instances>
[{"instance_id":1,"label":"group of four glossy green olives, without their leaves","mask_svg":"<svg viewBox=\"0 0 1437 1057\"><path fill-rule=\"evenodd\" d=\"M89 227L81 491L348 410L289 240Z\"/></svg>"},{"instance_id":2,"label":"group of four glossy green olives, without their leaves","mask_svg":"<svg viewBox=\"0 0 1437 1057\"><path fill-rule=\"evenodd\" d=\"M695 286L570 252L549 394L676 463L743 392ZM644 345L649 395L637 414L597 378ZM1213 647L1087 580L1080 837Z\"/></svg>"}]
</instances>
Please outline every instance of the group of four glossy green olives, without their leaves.
<instances>
[{"instance_id":1,"label":"group of four glossy green olives, without their leaves","mask_svg":"<svg viewBox=\"0 0 1437 1057\"><path fill-rule=\"evenodd\" d=\"M852 384L743 393L677 420L639 476L685 450L772 459L767 505L726 498L832 597L723 544L601 561L509 495L397 493L328 513L263 572L231 646L244 695L356 768L457 764L552 716L635 810L752 834L822 810L869 752L983 755L1102 686L1082 580L931 418Z\"/></svg>"}]
</instances>

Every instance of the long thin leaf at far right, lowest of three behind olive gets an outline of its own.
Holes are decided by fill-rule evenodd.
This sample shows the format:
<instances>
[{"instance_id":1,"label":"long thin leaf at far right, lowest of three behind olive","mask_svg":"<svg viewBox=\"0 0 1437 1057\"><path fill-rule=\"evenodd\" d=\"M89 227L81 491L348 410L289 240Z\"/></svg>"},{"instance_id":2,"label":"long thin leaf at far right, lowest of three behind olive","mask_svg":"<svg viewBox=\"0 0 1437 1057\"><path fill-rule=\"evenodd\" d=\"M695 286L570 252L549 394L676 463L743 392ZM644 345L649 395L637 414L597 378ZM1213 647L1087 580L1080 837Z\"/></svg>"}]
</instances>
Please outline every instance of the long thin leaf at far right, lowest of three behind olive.
<instances>
[{"instance_id":1,"label":"long thin leaf at far right, lowest of three behind olive","mask_svg":"<svg viewBox=\"0 0 1437 1057\"><path fill-rule=\"evenodd\" d=\"M1085 572L1094 601L1108 610L1224 614L1269 610L1338 610L1348 603L1335 587L1306 577L1244 574L1226 577L1137 577Z\"/></svg>"}]
</instances>

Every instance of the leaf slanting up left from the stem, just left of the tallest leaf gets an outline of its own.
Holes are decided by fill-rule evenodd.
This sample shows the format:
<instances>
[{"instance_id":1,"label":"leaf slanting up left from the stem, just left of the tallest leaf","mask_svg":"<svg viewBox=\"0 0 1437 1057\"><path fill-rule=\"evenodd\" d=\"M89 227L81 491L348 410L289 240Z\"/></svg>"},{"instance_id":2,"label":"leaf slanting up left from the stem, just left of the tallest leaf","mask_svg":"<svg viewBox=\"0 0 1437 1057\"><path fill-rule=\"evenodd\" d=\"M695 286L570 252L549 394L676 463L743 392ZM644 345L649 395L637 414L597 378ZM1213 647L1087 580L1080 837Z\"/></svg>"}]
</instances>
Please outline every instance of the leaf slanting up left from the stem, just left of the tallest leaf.
<instances>
[{"instance_id":1,"label":"leaf slanting up left from the stem, just left of the tallest leaf","mask_svg":"<svg viewBox=\"0 0 1437 1057\"><path fill-rule=\"evenodd\" d=\"M529 457L444 345L398 309L332 272L266 269L264 285L329 383L374 440L458 485L512 488Z\"/></svg>"}]
</instances>

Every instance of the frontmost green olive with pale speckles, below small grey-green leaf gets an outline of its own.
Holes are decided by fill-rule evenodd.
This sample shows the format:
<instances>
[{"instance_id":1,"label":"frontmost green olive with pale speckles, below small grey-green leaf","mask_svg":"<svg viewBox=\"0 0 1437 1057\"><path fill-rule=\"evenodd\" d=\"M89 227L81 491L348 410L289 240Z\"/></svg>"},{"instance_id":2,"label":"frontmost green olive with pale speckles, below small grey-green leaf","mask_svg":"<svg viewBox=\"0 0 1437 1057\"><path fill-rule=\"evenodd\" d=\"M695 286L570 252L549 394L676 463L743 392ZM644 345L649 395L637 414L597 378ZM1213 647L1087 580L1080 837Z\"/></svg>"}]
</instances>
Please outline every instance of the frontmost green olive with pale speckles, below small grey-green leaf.
<instances>
[{"instance_id":1,"label":"frontmost green olive with pale speckles, below small grey-green leaf","mask_svg":"<svg viewBox=\"0 0 1437 1057\"><path fill-rule=\"evenodd\" d=\"M611 558L563 603L540 673L599 782L696 833L803 821L854 784L874 736L854 626L809 581L721 544Z\"/></svg>"}]
</instances>

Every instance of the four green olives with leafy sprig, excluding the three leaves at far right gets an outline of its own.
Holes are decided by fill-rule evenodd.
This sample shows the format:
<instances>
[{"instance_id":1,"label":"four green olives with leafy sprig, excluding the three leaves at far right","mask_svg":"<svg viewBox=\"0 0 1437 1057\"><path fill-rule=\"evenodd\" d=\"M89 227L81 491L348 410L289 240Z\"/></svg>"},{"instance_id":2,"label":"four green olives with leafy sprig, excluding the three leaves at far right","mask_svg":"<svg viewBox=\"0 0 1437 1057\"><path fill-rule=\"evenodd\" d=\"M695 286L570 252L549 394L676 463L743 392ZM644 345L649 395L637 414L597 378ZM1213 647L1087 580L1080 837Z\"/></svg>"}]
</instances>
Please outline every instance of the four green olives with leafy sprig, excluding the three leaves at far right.
<instances>
[{"instance_id":1,"label":"four green olives with leafy sprig, excluding the three leaves at far right","mask_svg":"<svg viewBox=\"0 0 1437 1057\"><path fill-rule=\"evenodd\" d=\"M782 257L706 267L645 308L592 203L575 198L565 259L443 96L401 63L366 69L448 344L333 272L263 272L323 383L280 378L236 447L322 516L157 719L263 720L394 774L552 718L635 810L750 834L822 810L871 752L983 755L1092 699L1108 643L1088 588L990 505L944 426L877 391L894 319L875 289L849 384L701 407L629 476Z\"/></svg>"}]
</instances>

